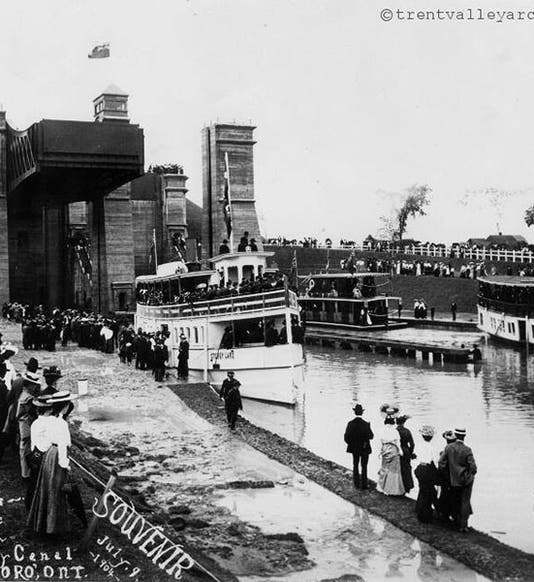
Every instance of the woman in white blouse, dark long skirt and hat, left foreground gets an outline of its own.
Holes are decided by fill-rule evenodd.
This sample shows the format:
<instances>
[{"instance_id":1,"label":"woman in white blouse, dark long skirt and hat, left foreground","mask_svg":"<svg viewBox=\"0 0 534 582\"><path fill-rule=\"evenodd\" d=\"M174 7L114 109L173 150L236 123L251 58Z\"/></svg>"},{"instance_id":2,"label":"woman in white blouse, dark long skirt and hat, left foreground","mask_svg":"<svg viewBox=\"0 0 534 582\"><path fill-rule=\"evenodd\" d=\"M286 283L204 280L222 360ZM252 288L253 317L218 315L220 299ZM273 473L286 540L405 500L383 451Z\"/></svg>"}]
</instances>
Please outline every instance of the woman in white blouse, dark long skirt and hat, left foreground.
<instances>
[{"instance_id":1,"label":"woman in white blouse, dark long skirt and hat, left foreground","mask_svg":"<svg viewBox=\"0 0 534 582\"><path fill-rule=\"evenodd\" d=\"M76 395L64 390L46 399L52 411L39 440L40 447L48 445L48 449L41 461L28 515L28 525L39 534L61 534L70 529L65 484L70 471L68 448L71 440L63 415L75 398Z\"/></svg>"}]
</instances>

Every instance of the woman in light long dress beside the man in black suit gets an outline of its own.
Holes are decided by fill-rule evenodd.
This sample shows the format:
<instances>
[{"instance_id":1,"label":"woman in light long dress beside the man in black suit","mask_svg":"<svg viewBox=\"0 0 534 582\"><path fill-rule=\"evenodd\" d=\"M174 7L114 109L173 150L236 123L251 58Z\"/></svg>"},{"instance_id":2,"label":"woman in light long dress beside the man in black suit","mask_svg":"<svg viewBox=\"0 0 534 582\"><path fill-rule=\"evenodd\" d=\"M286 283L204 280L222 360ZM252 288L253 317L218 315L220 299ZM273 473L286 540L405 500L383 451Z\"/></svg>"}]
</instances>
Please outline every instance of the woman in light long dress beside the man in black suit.
<instances>
[{"instance_id":1,"label":"woman in light long dress beside the man in black suit","mask_svg":"<svg viewBox=\"0 0 534 582\"><path fill-rule=\"evenodd\" d=\"M382 466L378 472L378 485L386 495L404 495L405 490L400 468L400 437L395 428L395 418L393 416L397 410L387 408L384 412L386 413L386 418L380 437Z\"/></svg>"}]
</instances>

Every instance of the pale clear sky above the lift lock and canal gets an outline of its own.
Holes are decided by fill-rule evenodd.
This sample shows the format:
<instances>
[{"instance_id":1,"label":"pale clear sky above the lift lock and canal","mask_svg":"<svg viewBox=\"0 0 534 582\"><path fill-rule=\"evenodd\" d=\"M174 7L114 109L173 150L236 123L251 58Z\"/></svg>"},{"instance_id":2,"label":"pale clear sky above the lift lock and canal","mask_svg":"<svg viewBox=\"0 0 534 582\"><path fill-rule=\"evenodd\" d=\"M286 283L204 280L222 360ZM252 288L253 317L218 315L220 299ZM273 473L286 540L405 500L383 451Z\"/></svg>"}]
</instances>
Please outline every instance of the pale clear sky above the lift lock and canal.
<instances>
[{"instance_id":1,"label":"pale clear sky above the lift lock and canal","mask_svg":"<svg viewBox=\"0 0 534 582\"><path fill-rule=\"evenodd\" d=\"M202 127L252 123L269 237L361 240L399 193L428 184L407 236L500 229L534 242L534 19L518 20L517 0L483 5L515 20L407 20L465 17L468 0L4 0L0 106L19 129L91 120L114 83L144 129L146 166L183 165L197 203ZM384 8L404 19L382 20ZM88 59L101 42L111 58Z\"/></svg>"}]
</instances>

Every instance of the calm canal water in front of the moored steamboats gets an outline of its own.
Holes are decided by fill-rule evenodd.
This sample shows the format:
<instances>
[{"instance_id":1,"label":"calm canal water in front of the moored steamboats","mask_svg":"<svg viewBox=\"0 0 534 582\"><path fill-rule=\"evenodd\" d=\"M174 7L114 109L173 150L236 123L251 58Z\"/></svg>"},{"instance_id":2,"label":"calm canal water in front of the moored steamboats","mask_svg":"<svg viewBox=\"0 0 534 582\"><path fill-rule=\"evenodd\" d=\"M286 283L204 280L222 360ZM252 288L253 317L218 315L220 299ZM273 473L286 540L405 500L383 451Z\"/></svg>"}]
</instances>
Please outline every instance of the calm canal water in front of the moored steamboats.
<instances>
[{"instance_id":1,"label":"calm canal water in front of the moored steamboats","mask_svg":"<svg viewBox=\"0 0 534 582\"><path fill-rule=\"evenodd\" d=\"M469 346L479 334L406 329L394 337ZM305 387L294 408L246 400L244 416L318 455L351 467L343 434L352 406L378 436L379 408L388 403L411 415L407 427L417 444L423 424L443 431L467 429L466 444L478 465L470 525L534 552L534 355L479 341L481 364L436 364L387 355L311 346L306 348ZM379 442L375 437L369 477L376 480ZM415 461L417 463L417 461ZM417 495L417 490L411 496Z\"/></svg>"}]
</instances>

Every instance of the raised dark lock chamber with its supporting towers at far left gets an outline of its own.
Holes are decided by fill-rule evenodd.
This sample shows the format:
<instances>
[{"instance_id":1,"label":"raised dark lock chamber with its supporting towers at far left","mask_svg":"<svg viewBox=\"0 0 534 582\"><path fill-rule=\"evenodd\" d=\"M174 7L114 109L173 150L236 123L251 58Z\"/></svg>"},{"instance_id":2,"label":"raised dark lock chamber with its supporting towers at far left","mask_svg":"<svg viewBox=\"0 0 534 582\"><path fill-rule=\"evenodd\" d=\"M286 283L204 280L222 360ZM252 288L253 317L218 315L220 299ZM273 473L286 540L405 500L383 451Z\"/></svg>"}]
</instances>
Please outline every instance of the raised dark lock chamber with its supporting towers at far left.
<instances>
[{"instance_id":1,"label":"raised dark lock chamber with its supporting towers at far left","mask_svg":"<svg viewBox=\"0 0 534 582\"><path fill-rule=\"evenodd\" d=\"M68 259L83 254L72 239L82 201L94 255L84 257L87 271L96 262L88 306L115 309L124 292L115 292L117 283L128 282L132 294L130 200L120 187L144 173L144 137L129 122L127 98L111 86L95 99L94 122L43 119L25 131L0 112L1 302L75 303Z\"/></svg>"}]
</instances>

